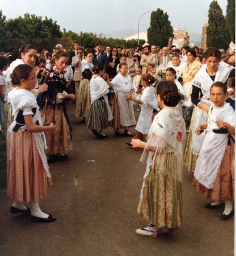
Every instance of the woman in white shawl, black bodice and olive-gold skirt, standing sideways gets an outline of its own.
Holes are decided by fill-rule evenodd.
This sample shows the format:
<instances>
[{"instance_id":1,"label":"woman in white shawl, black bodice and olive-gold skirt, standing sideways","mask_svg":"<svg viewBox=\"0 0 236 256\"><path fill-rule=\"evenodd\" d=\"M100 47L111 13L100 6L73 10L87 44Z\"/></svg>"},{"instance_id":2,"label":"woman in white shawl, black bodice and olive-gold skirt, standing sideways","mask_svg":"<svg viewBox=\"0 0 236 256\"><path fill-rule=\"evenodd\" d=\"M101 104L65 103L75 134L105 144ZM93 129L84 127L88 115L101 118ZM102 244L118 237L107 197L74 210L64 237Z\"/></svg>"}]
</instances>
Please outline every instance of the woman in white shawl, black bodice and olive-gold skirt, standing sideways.
<instances>
[{"instance_id":1,"label":"woman in white shawl, black bodice and olive-gold skirt, standing sideways","mask_svg":"<svg viewBox=\"0 0 236 256\"><path fill-rule=\"evenodd\" d=\"M79 85L75 116L83 117L83 123L86 122L88 109L91 104L89 81L92 77L92 68L94 67L94 64L92 64L93 57L92 51L85 51L85 59L82 60L82 81Z\"/></svg>"}]
</instances>

